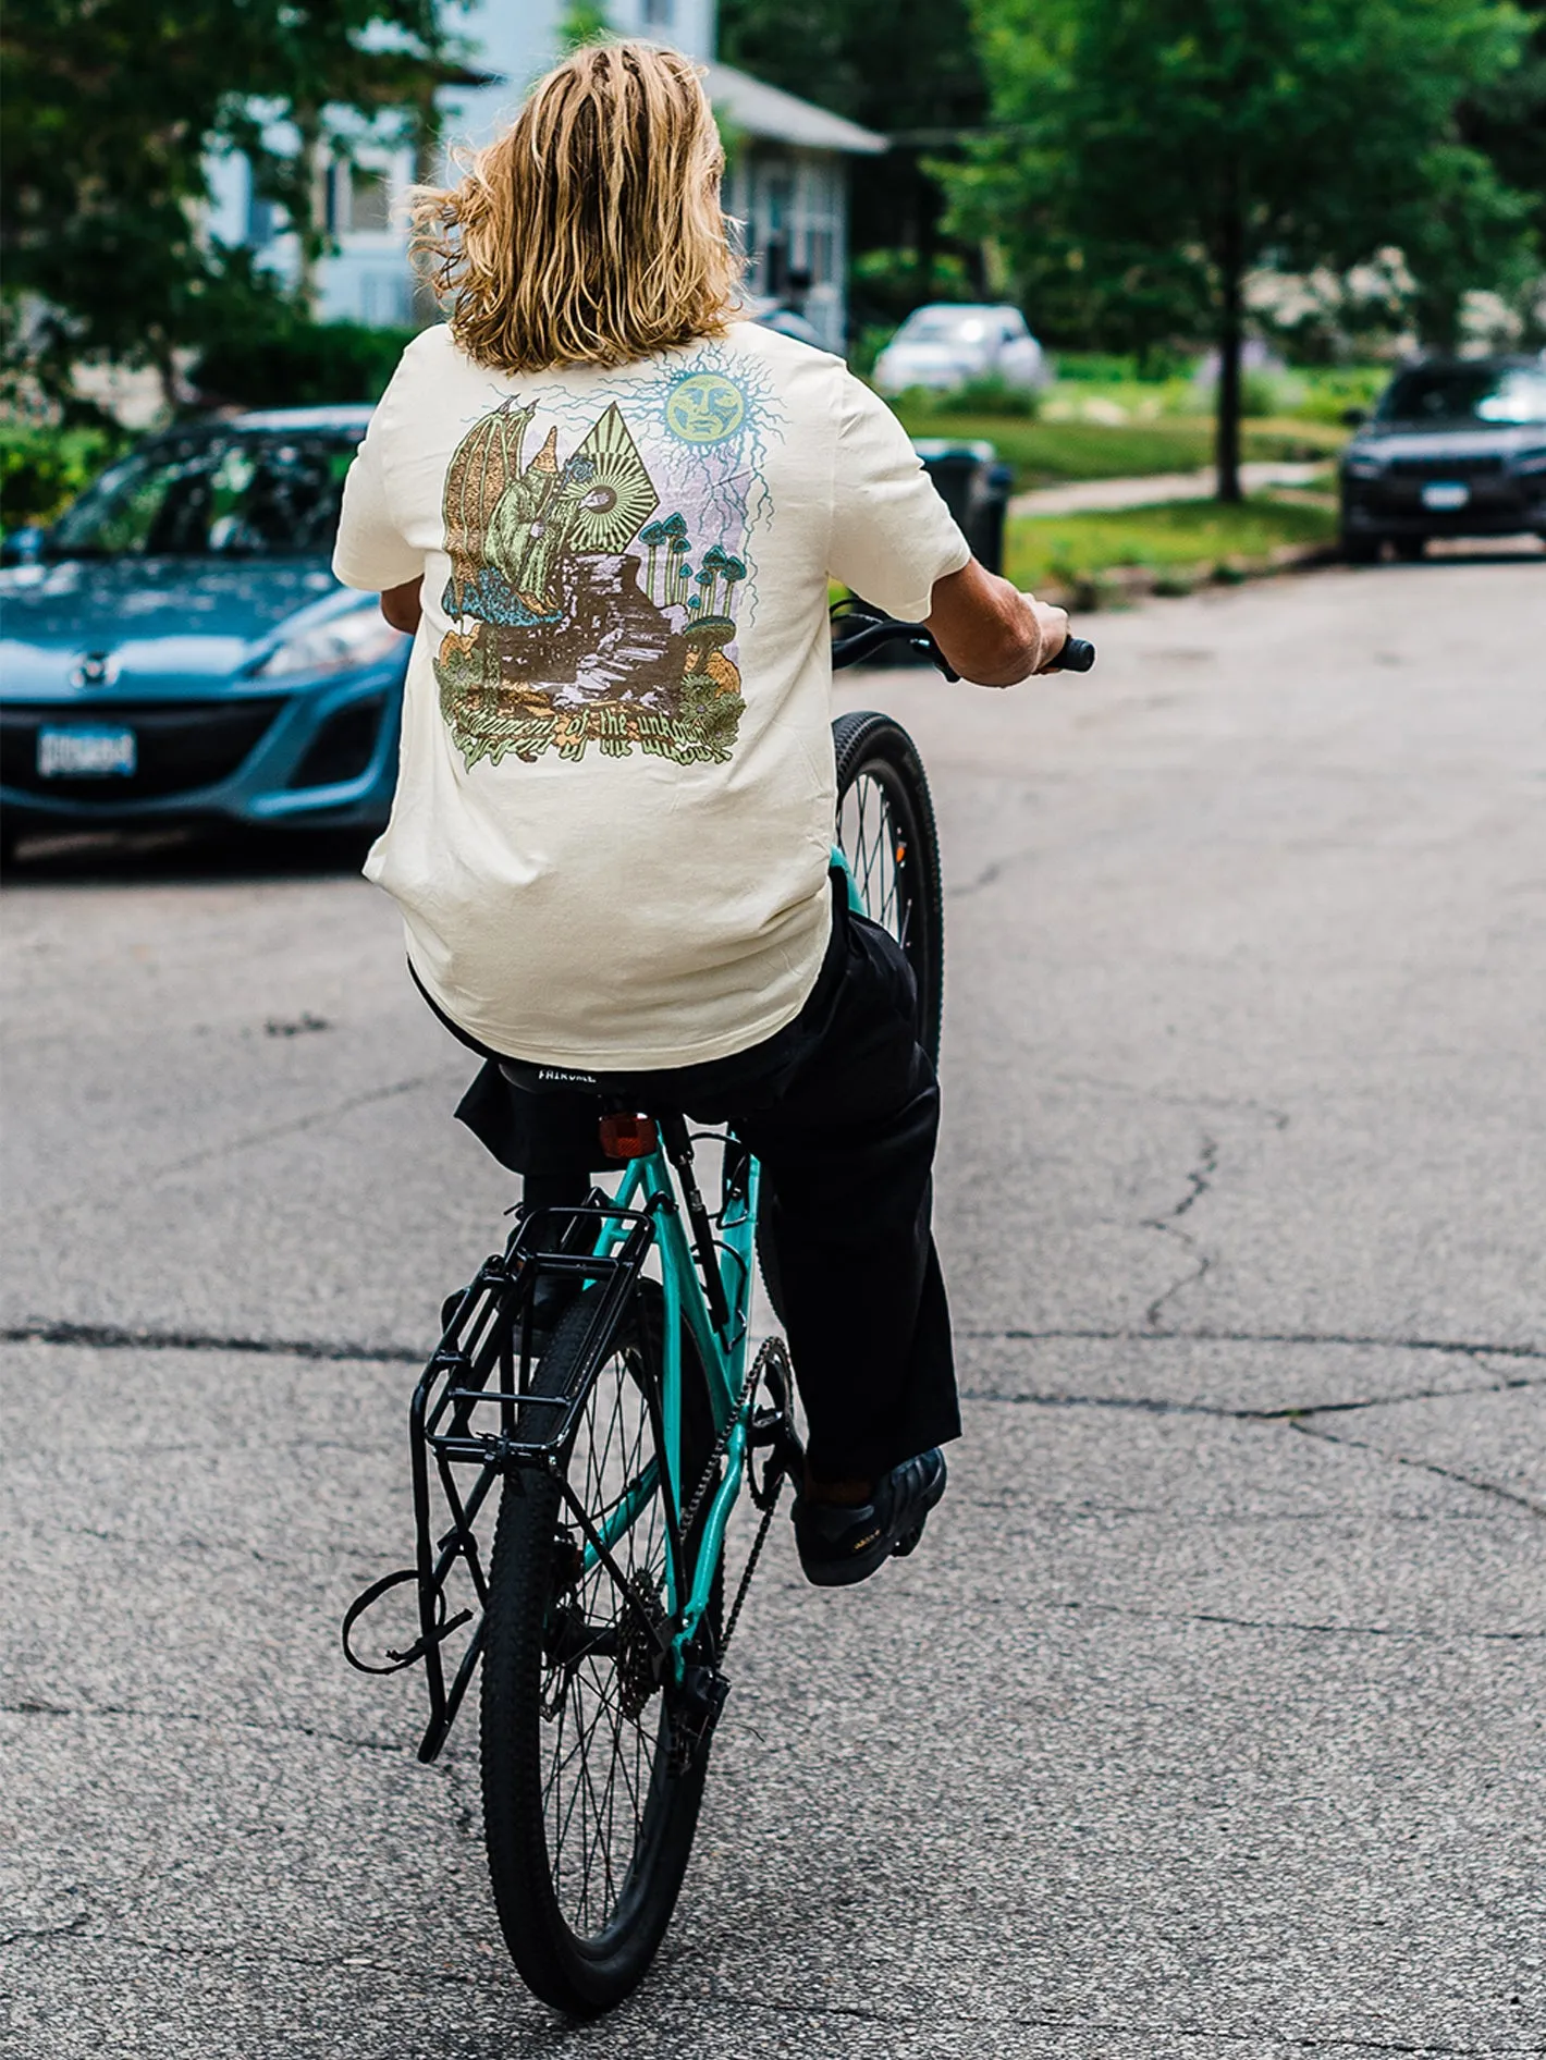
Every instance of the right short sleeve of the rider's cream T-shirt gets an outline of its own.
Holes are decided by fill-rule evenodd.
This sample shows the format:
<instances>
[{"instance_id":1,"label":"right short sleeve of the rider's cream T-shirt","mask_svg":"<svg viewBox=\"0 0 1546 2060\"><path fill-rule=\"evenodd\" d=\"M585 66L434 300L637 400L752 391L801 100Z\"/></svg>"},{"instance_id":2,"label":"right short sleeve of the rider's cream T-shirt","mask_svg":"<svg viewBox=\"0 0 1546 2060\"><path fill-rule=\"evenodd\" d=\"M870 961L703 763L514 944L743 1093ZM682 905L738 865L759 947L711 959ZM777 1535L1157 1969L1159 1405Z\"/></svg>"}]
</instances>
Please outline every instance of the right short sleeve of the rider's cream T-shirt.
<instances>
[{"instance_id":1,"label":"right short sleeve of the rider's cream T-shirt","mask_svg":"<svg viewBox=\"0 0 1546 2060\"><path fill-rule=\"evenodd\" d=\"M900 622L922 622L935 581L972 550L908 433L867 385L842 373L828 573Z\"/></svg>"}]
</instances>

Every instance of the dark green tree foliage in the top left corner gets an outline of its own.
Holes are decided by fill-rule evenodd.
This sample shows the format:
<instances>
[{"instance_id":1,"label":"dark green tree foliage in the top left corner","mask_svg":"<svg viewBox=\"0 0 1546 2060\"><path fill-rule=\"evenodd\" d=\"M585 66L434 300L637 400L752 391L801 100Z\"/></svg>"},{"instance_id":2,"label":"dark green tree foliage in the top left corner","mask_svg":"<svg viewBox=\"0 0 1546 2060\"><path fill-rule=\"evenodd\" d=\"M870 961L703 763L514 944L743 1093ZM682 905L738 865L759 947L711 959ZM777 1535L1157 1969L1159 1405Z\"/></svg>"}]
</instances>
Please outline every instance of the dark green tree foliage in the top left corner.
<instances>
[{"instance_id":1,"label":"dark green tree foliage in the top left corner","mask_svg":"<svg viewBox=\"0 0 1546 2060\"><path fill-rule=\"evenodd\" d=\"M286 210L305 299L321 161L350 150L336 111L428 107L443 49L434 0L8 0L8 367L68 400L80 358L148 363L171 398L179 346L272 321L282 297L206 233L212 152L245 150Z\"/></svg>"}]
</instances>

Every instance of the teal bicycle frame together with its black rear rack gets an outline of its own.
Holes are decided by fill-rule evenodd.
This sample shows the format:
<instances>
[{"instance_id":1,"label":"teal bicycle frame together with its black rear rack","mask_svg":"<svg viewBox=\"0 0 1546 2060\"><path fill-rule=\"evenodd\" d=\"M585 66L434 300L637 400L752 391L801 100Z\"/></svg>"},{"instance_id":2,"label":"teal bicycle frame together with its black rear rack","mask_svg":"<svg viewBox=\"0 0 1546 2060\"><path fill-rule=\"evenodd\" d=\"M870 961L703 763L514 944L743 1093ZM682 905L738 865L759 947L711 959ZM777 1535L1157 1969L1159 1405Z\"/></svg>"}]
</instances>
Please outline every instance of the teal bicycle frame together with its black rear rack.
<instances>
[{"instance_id":1,"label":"teal bicycle frame together with its black rear rack","mask_svg":"<svg viewBox=\"0 0 1546 2060\"><path fill-rule=\"evenodd\" d=\"M848 902L863 913L848 861L834 849L832 863L848 880ZM537 1236L543 1217L566 1217L568 1228ZM587 1246L576 1250L578 1228L593 1222ZM692 1226L692 1238L688 1236ZM718 1232L718 1234L714 1234ZM447 1615L447 1584L465 1564L476 1601L488 1603L488 1580L476 1535L478 1516L494 1481L535 1469L554 1473L576 1516L583 1564L591 1572L611 1561L613 1545L628 1533L659 1485L655 1463L628 1483L597 1529L564 1479L585 1401L611 1355L628 1298L644 1275L651 1252L661 1259L663 1339L655 1436L665 1456L665 1621L661 1681L692 1704L698 1737L706 1735L723 1702L714 1689L714 1654L700 1648L704 1615L725 1553L731 1512L751 1473L756 1434L756 1382L747 1384L751 1277L758 1232L758 1162L727 1137L725 1191L714 1217L698 1195L692 1139L679 1117L663 1119L651 1149L628 1162L616 1197L593 1191L572 1209L519 1213L502 1255L484 1261L473 1281L447 1304L445 1335L420 1376L408 1411L414 1483L416 1557L412 1568L387 1574L350 1605L344 1617L344 1654L362 1673L399 1673L424 1662L430 1720L418 1757L438 1757L471 1683L482 1650L482 1613ZM558 1246L556 1250L552 1246ZM578 1376L566 1395L533 1388L531 1312L541 1275L566 1273L599 1290L593 1320L578 1358ZM683 1496L696 1483L681 1473L681 1335L692 1333L708 1378L708 1401L723 1458L723 1473L702 1516L696 1541L683 1537ZM498 1409L498 1432L478 1428L478 1411ZM541 1432L533 1417L546 1419ZM457 1485L459 1467L478 1467L467 1494ZM436 1539L432 1479L438 1479L451 1529ZM609 1564L609 1574L620 1578ZM350 1644L354 1623L387 1590L418 1588L418 1638L387 1664L371 1664ZM451 1681L445 1675L447 1640L473 1623ZM694 1728L692 1724L688 1728Z\"/></svg>"}]
</instances>

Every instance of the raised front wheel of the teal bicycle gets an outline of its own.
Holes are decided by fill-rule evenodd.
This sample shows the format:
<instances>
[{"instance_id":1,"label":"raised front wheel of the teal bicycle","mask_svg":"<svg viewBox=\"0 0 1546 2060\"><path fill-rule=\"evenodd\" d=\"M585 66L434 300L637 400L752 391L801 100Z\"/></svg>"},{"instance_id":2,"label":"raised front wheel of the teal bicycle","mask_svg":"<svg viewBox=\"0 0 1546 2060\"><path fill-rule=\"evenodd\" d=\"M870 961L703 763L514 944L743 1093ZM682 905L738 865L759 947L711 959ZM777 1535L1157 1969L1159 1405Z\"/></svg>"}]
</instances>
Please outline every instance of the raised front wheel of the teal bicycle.
<instances>
[{"instance_id":1,"label":"raised front wheel of the teal bicycle","mask_svg":"<svg viewBox=\"0 0 1546 2060\"><path fill-rule=\"evenodd\" d=\"M945 902L939 832L918 748L889 715L856 711L832 725L838 845L871 923L908 954L918 983L918 1042L939 1063L945 1005Z\"/></svg>"}]
</instances>

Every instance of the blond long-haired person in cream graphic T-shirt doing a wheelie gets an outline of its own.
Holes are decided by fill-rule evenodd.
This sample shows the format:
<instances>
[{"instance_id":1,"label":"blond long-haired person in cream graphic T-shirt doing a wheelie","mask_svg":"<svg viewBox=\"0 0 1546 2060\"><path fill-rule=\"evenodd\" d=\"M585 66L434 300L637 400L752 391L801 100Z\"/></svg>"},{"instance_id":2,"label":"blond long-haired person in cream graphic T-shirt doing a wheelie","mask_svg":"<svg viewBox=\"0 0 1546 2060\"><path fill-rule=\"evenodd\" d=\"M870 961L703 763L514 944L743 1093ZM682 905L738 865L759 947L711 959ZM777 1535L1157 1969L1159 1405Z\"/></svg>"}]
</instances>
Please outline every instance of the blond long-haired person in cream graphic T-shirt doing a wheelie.
<instances>
[{"instance_id":1,"label":"blond long-haired person in cream graphic T-shirt doing a wheelie","mask_svg":"<svg viewBox=\"0 0 1546 2060\"><path fill-rule=\"evenodd\" d=\"M605 1104L764 1168L817 1584L873 1574L959 1436L930 1234L939 1086L902 948L830 876L828 591L1011 686L1066 616L984 571L840 358L739 317L698 68L578 49L416 200L449 319L348 476L333 569L414 630L366 878L484 1057L457 1114L576 1203Z\"/></svg>"}]
</instances>

